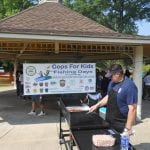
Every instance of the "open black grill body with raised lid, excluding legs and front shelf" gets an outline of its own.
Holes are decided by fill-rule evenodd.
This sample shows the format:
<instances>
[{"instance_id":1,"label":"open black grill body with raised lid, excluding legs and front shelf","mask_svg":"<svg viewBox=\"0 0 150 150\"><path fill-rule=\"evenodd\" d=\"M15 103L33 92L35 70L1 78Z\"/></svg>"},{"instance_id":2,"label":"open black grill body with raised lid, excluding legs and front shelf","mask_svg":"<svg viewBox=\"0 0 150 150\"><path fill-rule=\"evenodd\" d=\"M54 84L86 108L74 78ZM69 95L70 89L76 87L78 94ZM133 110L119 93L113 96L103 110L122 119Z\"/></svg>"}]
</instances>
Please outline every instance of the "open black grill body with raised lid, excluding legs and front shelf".
<instances>
[{"instance_id":1,"label":"open black grill body with raised lid, excluding legs and front shelf","mask_svg":"<svg viewBox=\"0 0 150 150\"><path fill-rule=\"evenodd\" d=\"M71 103L72 102L72 103ZM67 120L70 129L84 130L96 128L108 128L109 124L102 119L97 113L88 113L87 111L69 112L68 106L82 106L79 99L60 99L59 106L62 115Z\"/></svg>"}]
</instances>

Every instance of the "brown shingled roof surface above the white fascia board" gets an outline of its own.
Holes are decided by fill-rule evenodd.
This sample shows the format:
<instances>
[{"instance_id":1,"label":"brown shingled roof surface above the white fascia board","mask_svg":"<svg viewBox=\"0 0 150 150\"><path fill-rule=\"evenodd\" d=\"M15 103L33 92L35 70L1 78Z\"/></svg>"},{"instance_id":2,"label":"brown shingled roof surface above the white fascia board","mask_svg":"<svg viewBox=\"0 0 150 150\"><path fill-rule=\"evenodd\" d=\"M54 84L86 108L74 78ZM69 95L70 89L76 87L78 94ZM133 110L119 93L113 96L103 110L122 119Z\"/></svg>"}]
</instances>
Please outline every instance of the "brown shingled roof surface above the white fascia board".
<instances>
[{"instance_id":1,"label":"brown shingled roof surface above the white fascia board","mask_svg":"<svg viewBox=\"0 0 150 150\"><path fill-rule=\"evenodd\" d=\"M1 33L149 39L117 33L63 6L45 2L0 21Z\"/></svg>"}]
</instances>

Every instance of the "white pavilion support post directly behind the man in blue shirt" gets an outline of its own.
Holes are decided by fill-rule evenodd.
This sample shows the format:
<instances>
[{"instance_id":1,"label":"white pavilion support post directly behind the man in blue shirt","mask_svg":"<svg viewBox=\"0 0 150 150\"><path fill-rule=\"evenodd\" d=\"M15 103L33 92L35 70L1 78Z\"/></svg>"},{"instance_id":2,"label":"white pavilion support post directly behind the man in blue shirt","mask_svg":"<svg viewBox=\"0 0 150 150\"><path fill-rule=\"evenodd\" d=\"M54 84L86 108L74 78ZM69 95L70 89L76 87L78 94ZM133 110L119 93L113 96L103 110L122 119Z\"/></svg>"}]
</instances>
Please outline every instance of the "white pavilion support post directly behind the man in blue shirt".
<instances>
[{"instance_id":1,"label":"white pavilion support post directly behind the man in blue shirt","mask_svg":"<svg viewBox=\"0 0 150 150\"><path fill-rule=\"evenodd\" d=\"M138 88L137 119L141 120L142 110L142 68L143 68L143 47L137 46L135 50L133 80Z\"/></svg>"}]
</instances>

